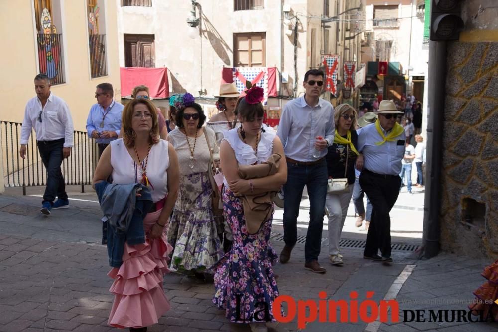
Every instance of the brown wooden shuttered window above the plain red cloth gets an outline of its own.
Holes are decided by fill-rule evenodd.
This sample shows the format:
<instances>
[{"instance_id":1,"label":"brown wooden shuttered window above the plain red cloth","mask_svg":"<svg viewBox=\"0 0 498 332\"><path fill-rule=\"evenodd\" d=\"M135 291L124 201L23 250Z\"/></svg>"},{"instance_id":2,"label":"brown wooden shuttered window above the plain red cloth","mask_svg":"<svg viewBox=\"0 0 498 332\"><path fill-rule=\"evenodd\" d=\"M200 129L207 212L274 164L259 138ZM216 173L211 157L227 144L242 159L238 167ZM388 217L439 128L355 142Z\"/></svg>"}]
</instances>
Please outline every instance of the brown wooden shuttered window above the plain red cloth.
<instances>
[{"instance_id":1,"label":"brown wooden shuttered window above the plain red cloth","mask_svg":"<svg viewBox=\"0 0 498 332\"><path fill-rule=\"evenodd\" d=\"M124 66L154 67L154 35L124 34Z\"/></svg>"}]
</instances>

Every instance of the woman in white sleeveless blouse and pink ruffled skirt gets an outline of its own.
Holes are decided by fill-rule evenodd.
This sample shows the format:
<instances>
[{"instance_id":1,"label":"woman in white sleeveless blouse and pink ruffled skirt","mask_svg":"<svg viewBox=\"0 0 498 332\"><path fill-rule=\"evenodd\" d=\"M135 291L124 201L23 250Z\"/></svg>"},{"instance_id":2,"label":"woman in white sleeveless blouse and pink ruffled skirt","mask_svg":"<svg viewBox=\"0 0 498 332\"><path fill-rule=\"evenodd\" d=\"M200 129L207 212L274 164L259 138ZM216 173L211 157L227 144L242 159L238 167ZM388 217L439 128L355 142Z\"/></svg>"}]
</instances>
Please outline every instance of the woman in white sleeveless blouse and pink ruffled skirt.
<instances>
[{"instance_id":1,"label":"woman in white sleeveless blouse and pink ruffled skirt","mask_svg":"<svg viewBox=\"0 0 498 332\"><path fill-rule=\"evenodd\" d=\"M172 247L166 233L178 194L179 166L175 150L159 139L155 106L134 99L123 110L123 138L105 149L94 175L94 184L112 175L119 185L142 183L151 190L152 209L143 219L145 243L124 244L123 263L108 275L115 295L108 324L130 331L147 331L170 309L162 287L168 273Z\"/></svg>"}]
</instances>

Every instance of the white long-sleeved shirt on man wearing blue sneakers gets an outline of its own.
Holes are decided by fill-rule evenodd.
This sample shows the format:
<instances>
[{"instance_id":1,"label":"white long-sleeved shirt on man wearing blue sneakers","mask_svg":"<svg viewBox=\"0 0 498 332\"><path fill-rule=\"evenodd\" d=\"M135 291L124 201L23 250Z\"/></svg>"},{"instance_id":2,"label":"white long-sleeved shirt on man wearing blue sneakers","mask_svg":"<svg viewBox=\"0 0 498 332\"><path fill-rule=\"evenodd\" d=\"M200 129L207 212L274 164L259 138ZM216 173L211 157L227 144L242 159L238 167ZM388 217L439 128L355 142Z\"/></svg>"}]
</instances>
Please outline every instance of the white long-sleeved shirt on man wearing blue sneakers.
<instances>
[{"instance_id":1,"label":"white long-sleeved shirt on man wearing blue sneakers","mask_svg":"<svg viewBox=\"0 0 498 332\"><path fill-rule=\"evenodd\" d=\"M41 111L41 122L38 120ZM64 138L64 147L73 147L73 119L66 102L50 93L45 106L38 97L31 98L26 104L21 128L21 145L28 144L29 135L34 128L37 141L54 141Z\"/></svg>"}]
</instances>

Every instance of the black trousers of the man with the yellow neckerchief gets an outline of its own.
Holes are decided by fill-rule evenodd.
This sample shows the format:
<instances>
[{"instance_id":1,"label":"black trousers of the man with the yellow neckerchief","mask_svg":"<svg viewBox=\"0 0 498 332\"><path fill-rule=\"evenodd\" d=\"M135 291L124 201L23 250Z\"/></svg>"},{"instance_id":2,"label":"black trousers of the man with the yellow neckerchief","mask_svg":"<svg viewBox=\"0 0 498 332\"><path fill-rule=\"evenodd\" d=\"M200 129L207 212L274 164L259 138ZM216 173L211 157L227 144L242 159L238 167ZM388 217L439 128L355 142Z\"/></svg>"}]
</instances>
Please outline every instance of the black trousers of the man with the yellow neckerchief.
<instances>
[{"instance_id":1,"label":"black trousers of the man with the yellow neckerchief","mask_svg":"<svg viewBox=\"0 0 498 332\"><path fill-rule=\"evenodd\" d=\"M368 170L360 174L360 185L372 203L367 243L363 254L382 257L391 256L391 218L389 212L398 199L401 178L397 175L383 176Z\"/></svg>"}]
</instances>

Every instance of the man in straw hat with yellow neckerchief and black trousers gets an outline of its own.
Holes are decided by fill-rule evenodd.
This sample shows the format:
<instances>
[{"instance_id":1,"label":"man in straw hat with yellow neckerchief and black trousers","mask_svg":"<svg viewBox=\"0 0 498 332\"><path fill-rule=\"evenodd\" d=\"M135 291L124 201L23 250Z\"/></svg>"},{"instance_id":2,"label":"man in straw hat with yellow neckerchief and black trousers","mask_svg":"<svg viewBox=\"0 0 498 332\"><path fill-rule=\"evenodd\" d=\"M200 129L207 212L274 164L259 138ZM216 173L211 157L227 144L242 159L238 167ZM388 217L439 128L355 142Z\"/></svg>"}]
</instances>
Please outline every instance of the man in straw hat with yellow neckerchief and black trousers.
<instances>
[{"instance_id":1,"label":"man in straw hat with yellow neckerchief and black trousers","mask_svg":"<svg viewBox=\"0 0 498 332\"><path fill-rule=\"evenodd\" d=\"M363 257L391 263L391 220L389 212L398 198L401 185L401 160L405 153L405 132L396 122L398 114L393 101L383 100L374 124L358 134L356 167L362 170L360 186L372 203L372 217ZM363 154L363 158L361 157ZM378 255L378 250L382 256Z\"/></svg>"}]
</instances>

